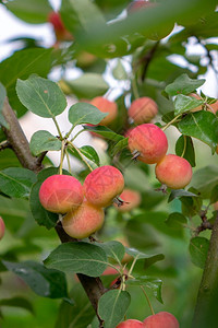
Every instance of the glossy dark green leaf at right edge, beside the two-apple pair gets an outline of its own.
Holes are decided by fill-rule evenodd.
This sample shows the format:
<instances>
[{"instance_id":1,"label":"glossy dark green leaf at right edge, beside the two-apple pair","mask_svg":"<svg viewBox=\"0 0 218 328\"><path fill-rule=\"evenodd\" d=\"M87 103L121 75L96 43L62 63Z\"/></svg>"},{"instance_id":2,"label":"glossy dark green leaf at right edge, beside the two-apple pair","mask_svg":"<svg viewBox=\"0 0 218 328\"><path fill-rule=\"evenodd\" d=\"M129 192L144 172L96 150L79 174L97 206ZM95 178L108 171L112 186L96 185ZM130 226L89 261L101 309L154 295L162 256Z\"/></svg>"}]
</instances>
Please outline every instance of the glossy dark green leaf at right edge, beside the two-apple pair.
<instances>
[{"instance_id":1,"label":"glossy dark green leaf at right edge, beside the two-apple pair","mask_svg":"<svg viewBox=\"0 0 218 328\"><path fill-rule=\"evenodd\" d=\"M199 139L208 144L213 151L218 144L218 119L205 110L191 113L185 116L179 124L181 133Z\"/></svg>"}]
</instances>

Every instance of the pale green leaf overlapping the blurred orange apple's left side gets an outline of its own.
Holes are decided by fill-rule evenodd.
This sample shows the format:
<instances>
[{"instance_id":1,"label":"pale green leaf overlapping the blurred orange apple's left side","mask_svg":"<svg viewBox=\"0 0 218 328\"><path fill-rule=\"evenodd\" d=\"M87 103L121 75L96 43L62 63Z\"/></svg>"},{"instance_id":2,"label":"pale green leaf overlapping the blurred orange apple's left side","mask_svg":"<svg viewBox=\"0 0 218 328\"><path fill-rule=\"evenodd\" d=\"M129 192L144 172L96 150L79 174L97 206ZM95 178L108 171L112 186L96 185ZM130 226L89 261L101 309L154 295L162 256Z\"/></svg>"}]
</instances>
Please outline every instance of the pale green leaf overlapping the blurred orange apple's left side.
<instances>
[{"instance_id":1,"label":"pale green leaf overlapping the blurred orange apple's left side","mask_svg":"<svg viewBox=\"0 0 218 328\"><path fill-rule=\"evenodd\" d=\"M69 109L69 120L75 127L82 124L97 125L108 114L87 103L77 103Z\"/></svg>"}]
</instances>

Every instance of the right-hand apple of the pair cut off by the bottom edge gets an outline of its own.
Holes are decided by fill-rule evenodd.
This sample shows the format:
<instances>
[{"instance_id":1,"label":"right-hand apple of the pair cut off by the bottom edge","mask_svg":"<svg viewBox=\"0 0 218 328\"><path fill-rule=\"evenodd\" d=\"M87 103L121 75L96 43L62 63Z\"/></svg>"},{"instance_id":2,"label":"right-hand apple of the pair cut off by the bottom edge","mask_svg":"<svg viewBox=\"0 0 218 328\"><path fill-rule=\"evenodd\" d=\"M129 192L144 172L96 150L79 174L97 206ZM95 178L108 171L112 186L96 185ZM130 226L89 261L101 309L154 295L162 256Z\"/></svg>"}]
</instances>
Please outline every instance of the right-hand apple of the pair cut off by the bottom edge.
<instances>
[{"instance_id":1,"label":"right-hand apple of the pair cut off by the bottom edge","mask_svg":"<svg viewBox=\"0 0 218 328\"><path fill-rule=\"evenodd\" d=\"M144 328L179 328L178 319L169 312L159 312L144 320Z\"/></svg>"}]
</instances>

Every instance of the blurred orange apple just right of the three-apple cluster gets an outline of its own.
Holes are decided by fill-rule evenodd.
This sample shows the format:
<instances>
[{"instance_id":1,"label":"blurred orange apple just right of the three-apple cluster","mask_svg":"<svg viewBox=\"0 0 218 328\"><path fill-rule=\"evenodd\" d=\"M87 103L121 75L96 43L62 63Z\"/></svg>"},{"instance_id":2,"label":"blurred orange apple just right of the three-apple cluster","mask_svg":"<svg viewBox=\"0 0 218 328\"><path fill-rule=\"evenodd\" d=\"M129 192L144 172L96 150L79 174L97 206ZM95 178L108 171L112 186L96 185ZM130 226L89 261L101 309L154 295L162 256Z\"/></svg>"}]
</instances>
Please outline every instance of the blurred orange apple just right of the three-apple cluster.
<instances>
[{"instance_id":1,"label":"blurred orange apple just right of the three-apple cluster","mask_svg":"<svg viewBox=\"0 0 218 328\"><path fill-rule=\"evenodd\" d=\"M122 194L120 194L119 198L123 200L123 204L118 206L114 203L114 207L120 212L130 212L133 209L137 208L141 203L141 194L138 191L125 188Z\"/></svg>"}]
</instances>

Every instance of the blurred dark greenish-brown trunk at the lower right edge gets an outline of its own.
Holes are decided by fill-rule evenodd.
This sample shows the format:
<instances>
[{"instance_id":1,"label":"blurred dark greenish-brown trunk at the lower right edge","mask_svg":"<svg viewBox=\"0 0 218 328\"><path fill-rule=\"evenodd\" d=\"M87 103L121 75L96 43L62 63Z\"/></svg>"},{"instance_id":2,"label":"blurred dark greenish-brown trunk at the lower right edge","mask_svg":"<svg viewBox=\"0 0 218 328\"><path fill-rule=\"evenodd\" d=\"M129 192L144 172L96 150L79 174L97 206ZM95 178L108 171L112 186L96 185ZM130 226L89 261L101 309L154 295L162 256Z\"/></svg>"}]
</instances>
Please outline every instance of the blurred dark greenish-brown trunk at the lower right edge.
<instances>
[{"instance_id":1,"label":"blurred dark greenish-brown trunk at the lower right edge","mask_svg":"<svg viewBox=\"0 0 218 328\"><path fill-rule=\"evenodd\" d=\"M218 302L218 215L215 220L207 259L198 290L193 328L216 327Z\"/></svg>"}]
</instances>

